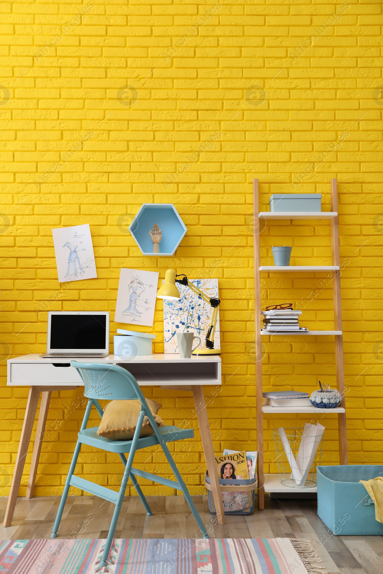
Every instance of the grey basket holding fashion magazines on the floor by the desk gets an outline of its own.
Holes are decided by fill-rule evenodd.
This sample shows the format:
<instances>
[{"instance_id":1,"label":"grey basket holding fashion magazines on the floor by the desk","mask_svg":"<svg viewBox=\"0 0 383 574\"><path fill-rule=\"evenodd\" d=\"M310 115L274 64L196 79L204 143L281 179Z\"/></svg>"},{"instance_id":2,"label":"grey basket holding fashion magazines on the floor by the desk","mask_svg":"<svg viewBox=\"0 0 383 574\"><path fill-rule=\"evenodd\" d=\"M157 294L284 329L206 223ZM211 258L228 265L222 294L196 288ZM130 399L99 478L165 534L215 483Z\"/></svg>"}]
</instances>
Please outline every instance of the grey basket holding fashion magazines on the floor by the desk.
<instances>
[{"instance_id":1,"label":"grey basket holding fashion magazines on the floor by the desk","mask_svg":"<svg viewBox=\"0 0 383 574\"><path fill-rule=\"evenodd\" d=\"M252 514L254 498L258 482L256 478L250 480L223 480L219 479L220 494L225 514ZM205 486L209 510L216 514L210 478L205 474Z\"/></svg>"}]
</instances>

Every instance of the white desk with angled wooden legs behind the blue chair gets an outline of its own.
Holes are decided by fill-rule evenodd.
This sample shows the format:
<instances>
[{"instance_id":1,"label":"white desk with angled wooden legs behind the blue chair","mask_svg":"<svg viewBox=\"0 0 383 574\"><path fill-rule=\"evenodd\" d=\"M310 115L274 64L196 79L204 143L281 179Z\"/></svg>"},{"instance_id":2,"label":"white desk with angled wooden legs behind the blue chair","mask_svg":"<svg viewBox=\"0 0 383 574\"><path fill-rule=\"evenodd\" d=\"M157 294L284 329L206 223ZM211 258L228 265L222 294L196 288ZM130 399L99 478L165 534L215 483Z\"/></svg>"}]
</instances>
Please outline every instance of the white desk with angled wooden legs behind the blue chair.
<instances>
[{"instance_id":1,"label":"white desk with angled wooden legs behind the blue chair","mask_svg":"<svg viewBox=\"0 0 383 574\"><path fill-rule=\"evenodd\" d=\"M217 509L217 521L225 524L222 498L214 459L210 426L207 418L203 385L221 385L221 361L219 356L192 357L181 359L179 355L144 355L132 360L121 356L108 355L100 359L77 359L79 362L118 364L128 370L140 386L163 386L173 389L191 390L198 418L199 429L206 466L211 477L212 493ZM9 493L4 526L10 526L20 488L25 457L28 452L33 422L36 417L38 399L42 393L38 415L36 438L34 440L32 463L30 466L26 498L33 497L41 444L44 439L45 424L52 391L76 389L83 386L80 375L69 365L68 358L42 358L40 355L24 355L7 360L7 385L29 386L29 396L22 425L20 444Z\"/></svg>"}]
</instances>

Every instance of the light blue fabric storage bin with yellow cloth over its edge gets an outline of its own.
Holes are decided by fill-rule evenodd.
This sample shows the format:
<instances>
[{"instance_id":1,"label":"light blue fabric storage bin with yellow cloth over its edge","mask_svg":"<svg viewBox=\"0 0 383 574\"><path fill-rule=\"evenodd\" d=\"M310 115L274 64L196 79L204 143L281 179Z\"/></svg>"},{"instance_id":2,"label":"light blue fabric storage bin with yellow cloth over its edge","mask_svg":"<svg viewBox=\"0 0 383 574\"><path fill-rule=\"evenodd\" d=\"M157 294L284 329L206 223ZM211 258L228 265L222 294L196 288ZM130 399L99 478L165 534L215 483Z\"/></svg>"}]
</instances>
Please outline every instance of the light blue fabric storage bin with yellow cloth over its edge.
<instances>
[{"instance_id":1,"label":"light blue fabric storage bin with yellow cloth over its edge","mask_svg":"<svg viewBox=\"0 0 383 574\"><path fill-rule=\"evenodd\" d=\"M316 467L318 516L337 536L383 536L375 505L359 480L383 476L380 464ZM364 504L363 504L363 502Z\"/></svg>"}]
</instances>

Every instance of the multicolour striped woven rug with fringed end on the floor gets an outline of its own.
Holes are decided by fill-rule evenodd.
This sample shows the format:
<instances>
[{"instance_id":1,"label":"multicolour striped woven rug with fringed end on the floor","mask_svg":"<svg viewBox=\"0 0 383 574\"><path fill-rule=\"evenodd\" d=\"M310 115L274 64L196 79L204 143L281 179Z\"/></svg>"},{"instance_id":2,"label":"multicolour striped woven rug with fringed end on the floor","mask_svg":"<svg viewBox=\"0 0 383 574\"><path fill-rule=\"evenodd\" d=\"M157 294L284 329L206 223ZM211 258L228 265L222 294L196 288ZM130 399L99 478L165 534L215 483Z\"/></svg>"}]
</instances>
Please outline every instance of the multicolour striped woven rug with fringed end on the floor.
<instances>
[{"instance_id":1,"label":"multicolour striped woven rug with fringed end on the floor","mask_svg":"<svg viewBox=\"0 0 383 574\"><path fill-rule=\"evenodd\" d=\"M3 540L1 574L307 574L323 572L308 541L289 538ZM294 548L296 546L297 550Z\"/></svg>"}]
</instances>

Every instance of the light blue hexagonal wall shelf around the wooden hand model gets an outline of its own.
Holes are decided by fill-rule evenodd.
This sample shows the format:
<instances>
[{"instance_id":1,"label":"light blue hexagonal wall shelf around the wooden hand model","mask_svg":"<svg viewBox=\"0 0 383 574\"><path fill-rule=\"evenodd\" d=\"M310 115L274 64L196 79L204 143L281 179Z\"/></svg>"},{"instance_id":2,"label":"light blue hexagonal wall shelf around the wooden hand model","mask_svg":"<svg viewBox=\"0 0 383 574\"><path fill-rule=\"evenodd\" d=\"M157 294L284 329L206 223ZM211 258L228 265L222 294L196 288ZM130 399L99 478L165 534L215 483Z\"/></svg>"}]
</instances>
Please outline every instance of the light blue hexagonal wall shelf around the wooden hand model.
<instances>
[{"instance_id":1,"label":"light blue hexagonal wall shelf around the wooden hand model","mask_svg":"<svg viewBox=\"0 0 383 574\"><path fill-rule=\"evenodd\" d=\"M153 243L149 231L157 223L162 232L160 253L153 253ZM174 255L187 228L172 203L143 203L129 226L142 255L164 257Z\"/></svg>"}]
</instances>

